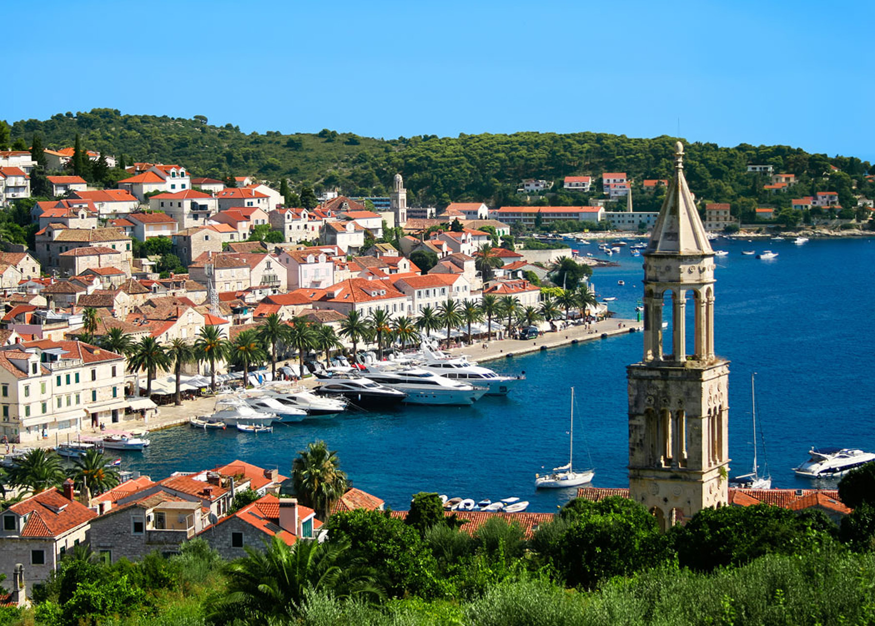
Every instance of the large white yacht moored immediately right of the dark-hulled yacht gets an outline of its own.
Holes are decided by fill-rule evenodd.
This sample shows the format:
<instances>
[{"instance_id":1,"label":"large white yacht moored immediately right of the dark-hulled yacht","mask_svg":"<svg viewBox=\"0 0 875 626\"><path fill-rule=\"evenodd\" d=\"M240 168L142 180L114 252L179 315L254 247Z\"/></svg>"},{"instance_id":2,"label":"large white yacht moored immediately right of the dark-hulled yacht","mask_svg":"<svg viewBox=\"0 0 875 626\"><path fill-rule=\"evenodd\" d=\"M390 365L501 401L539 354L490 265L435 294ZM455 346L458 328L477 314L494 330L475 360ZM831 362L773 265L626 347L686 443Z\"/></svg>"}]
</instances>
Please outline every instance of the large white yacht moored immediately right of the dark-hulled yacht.
<instances>
[{"instance_id":1,"label":"large white yacht moored immediately right of the dark-hulled yacht","mask_svg":"<svg viewBox=\"0 0 875 626\"><path fill-rule=\"evenodd\" d=\"M406 393L406 404L474 404L486 395L486 387L450 380L427 369L378 365L369 368L365 375L374 383Z\"/></svg>"}]
</instances>

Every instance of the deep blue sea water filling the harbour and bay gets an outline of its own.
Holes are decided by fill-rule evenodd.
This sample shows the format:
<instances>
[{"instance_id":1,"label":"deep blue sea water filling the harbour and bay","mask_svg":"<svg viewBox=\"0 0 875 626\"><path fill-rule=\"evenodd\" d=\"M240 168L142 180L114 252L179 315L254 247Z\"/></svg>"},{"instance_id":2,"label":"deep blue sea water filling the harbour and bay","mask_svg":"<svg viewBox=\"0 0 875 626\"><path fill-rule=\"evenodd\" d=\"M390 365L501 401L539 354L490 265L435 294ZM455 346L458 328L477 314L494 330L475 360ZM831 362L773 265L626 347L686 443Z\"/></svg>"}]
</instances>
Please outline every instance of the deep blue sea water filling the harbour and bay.
<instances>
[{"instance_id":1,"label":"deep blue sea water filling the harbour and bay","mask_svg":"<svg viewBox=\"0 0 875 626\"><path fill-rule=\"evenodd\" d=\"M631 241L631 240L630 240ZM715 341L731 361L732 474L750 471L750 375L775 487L806 487L791 471L810 446L875 450L875 240L731 242L717 259ZM595 253L595 244L580 246ZM762 261L741 250L773 250ZM634 318L641 297L641 257L614 255L619 267L595 271L612 309ZM626 285L617 285L624 280ZM153 478L242 459L288 474L298 450L324 439L339 451L356 486L405 509L417 491L493 500L519 496L529 510L556 510L574 489L535 492L535 472L567 462L569 388L575 386L575 466L596 468L593 485L627 486L626 366L641 358L642 335L502 359L501 372L528 376L508 397L472 407L401 407L276 426L271 435L194 431L151 433L143 454L123 454L123 468ZM588 456L589 455L589 456ZM763 453L760 452L760 462Z\"/></svg>"}]
</instances>

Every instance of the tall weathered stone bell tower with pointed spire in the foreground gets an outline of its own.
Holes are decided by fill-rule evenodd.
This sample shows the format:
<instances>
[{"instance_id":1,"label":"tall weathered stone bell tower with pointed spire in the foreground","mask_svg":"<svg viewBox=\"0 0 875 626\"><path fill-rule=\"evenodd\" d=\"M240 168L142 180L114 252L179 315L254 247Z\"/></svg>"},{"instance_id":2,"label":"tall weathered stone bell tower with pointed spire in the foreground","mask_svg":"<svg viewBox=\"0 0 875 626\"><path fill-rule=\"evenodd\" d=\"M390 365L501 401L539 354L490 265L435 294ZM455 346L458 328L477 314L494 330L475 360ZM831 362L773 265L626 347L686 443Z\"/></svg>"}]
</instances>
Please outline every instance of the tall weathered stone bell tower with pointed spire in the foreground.
<instances>
[{"instance_id":1,"label":"tall weathered stone bell tower with pointed spire in the foreground","mask_svg":"<svg viewBox=\"0 0 875 626\"><path fill-rule=\"evenodd\" d=\"M728 498L729 362L714 354L714 251L681 142L643 257L644 356L627 368L629 497L665 529Z\"/></svg>"}]
</instances>

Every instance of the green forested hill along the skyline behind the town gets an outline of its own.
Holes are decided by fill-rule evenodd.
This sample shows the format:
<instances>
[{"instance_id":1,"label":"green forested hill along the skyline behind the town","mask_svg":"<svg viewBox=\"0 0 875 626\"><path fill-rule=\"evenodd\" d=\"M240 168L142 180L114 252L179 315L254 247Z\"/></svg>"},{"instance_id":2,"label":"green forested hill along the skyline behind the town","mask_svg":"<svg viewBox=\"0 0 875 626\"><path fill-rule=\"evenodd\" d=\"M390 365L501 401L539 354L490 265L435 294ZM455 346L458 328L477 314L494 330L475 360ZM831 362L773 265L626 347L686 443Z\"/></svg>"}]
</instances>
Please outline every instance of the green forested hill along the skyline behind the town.
<instances>
[{"instance_id":1,"label":"green forested hill along the skyline behind the town","mask_svg":"<svg viewBox=\"0 0 875 626\"><path fill-rule=\"evenodd\" d=\"M315 135L275 131L247 135L231 124L211 125L204 116L130 116L115 109L11 124L13 142L20 139L30 145L35 132L42 134L48 148L73 145L78 133L84 148L124 155L128 163L179 163L195 175L210 178L234 174L278 181L287 177L292 186L311 185L317 191L338 187L341 193L355 196L388 193L393 175L401 172L409 204L438 207L452 200L484 200L492 206L520 204L520 196L514 192L526 178L556 181L548 199L532 201L579 204L588 200L584 194L562 191L562 179L569 174L598 177L601 172L627 172L637 191L643 179L670 177L676 141L676 137L644 139L591 132L388 140L333 130ZM801 182L790 193L770 194L762 186L771 181L746 173L748 164L774 165L774 172L795 173ZM854 157L828 158L783 145L724 148L690 144L685 168L697 198L737 202L743 207L758 203L788 206L791 198L819 190L839 192L844 207L856 204L852 193L872 197L868 193L872 183L864 177L869 163ZM825 176L827 173L830 175ZM594 179L594 184L600 187L600 178ZM856 192L852 191L855 184ZM648 200L641 193L634 197L636 208L658 200ZM733 206L733 212L735 209Z\"/></svg>"}]
</instances>

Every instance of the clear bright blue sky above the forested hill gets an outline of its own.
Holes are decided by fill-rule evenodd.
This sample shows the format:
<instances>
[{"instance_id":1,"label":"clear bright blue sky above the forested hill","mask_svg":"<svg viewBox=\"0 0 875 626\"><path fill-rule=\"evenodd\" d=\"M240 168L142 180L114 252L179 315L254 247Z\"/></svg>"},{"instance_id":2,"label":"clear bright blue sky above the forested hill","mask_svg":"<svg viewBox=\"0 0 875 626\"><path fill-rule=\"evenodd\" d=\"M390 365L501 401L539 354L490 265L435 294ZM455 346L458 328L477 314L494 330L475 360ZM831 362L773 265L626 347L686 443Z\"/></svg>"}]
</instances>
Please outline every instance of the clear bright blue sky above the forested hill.
<instances>
[{"instance_id":1,"label":"clear bright blue sky above the forested hill","mask_svg":"<svg viewBox=\"0 0 875 626\"><path fill-rule=\"evenodd\" d=\"M45 0L4 16L9 122L108 107L247 132L655 137L680 118L694 141L875 160L872 2Z\"/></svg>"}]
</instances>

